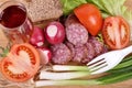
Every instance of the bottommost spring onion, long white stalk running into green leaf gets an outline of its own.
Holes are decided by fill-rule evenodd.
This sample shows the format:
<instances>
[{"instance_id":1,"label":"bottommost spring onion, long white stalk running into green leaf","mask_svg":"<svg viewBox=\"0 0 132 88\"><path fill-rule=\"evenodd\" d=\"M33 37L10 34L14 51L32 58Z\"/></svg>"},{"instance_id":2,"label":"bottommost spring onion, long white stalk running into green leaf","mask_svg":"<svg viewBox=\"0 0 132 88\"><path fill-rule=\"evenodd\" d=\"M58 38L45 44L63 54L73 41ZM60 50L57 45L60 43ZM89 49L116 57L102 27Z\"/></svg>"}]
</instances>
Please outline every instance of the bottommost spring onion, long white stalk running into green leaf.
<instances>
[{"instance_id":1,"label":"bottommost spring onion, long white stalk running into green leaf","mask_svg":"<svg viewBox=\"0 0 132 88\"><path fill-rule=\"evenodd\" d=\"M87 79L87 80L38 80L35 81L36 87L42 86L90 86L90 85L109 85L109 84L116 84L119 81L123 81L127 79L132 78L131 70L124 72L124 73L114 73L110 74L100 78L96 79Z\"/></svg>"}]
</instances>

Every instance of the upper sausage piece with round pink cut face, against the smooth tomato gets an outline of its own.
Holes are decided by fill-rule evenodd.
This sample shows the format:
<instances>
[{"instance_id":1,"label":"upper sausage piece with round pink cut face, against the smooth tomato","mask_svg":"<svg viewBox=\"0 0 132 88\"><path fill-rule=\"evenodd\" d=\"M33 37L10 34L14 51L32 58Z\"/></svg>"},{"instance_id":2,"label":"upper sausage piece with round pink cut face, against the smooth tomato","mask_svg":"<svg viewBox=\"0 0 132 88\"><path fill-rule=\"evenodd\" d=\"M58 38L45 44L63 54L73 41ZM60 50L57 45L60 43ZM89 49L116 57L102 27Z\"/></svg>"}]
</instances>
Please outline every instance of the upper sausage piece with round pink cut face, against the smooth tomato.
<instances>
[{"instance_id":1,"label":"upper sausage piece with round pink cut face, against the smooth tomato","mask_svg":"<svg viewBox=\"0 0 132 88\"><path fill-rule=\"evenodd\" d=\"M88 41L88 31L75 15L68 16L66 23L66 37L74 45L85 44Z\"/></svg>"}]
</instances>

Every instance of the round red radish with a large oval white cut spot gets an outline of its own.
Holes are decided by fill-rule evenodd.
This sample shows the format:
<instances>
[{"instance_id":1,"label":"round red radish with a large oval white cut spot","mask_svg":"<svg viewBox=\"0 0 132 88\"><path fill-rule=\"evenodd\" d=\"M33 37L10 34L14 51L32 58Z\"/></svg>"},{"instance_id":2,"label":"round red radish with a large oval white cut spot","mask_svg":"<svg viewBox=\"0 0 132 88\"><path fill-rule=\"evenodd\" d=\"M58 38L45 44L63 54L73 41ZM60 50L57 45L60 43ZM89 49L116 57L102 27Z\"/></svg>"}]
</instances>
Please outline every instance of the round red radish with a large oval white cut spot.
<instances>
[{"instance_id":1,"label":"round red radish with a large oval white cut spot","mask_svg":"<svg viewBox=\"0 0 132 88\"><path fill-rule=\"evenodd\" d=\"M65 38L63 24L59 22L51 22L45 29L45 37L51 44L62 43Z\"/></svg>"}]
</instances>

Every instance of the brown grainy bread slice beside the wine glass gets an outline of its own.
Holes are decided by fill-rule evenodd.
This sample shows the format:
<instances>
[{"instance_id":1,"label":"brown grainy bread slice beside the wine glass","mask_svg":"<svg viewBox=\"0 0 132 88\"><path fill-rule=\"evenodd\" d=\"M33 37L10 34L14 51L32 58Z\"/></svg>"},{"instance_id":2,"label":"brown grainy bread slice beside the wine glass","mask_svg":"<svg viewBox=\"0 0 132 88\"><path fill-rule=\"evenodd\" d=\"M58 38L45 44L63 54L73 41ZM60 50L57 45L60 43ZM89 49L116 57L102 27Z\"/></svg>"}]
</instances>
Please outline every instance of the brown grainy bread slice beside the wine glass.
<instances>
[{"instance_id":1,"label":"brown grainy bread slice beside the wine glass","mask_svg":"<svg viewBox=\"0 0 132 88\"><path fill-rule=\"evenodd\" d=\"M61 0L19 0L22 1L33 22L55 20L63 14Z\"/></svg>"}]
</instances>

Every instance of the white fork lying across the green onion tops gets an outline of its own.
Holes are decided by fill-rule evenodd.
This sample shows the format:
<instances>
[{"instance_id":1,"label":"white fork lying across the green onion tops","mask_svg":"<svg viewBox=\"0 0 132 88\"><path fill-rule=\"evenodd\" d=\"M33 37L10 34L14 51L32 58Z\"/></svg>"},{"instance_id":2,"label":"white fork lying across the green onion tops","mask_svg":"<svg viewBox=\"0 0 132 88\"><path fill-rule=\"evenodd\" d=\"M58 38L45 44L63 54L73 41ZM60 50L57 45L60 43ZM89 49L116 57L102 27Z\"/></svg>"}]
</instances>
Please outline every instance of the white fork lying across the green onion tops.
<instances>
[{"instance_id":1,"label":"white fork lying across the green onion tops","mask_svg":"<svg viewBox=\"0 0 132 88\"><path fill-rule=\"evenodd\" d=\"M89 62L87 66L91 74L101 74L117 66L130 53L132 53L132 45L101 54Z\"/></svg>"}]
</instances>

